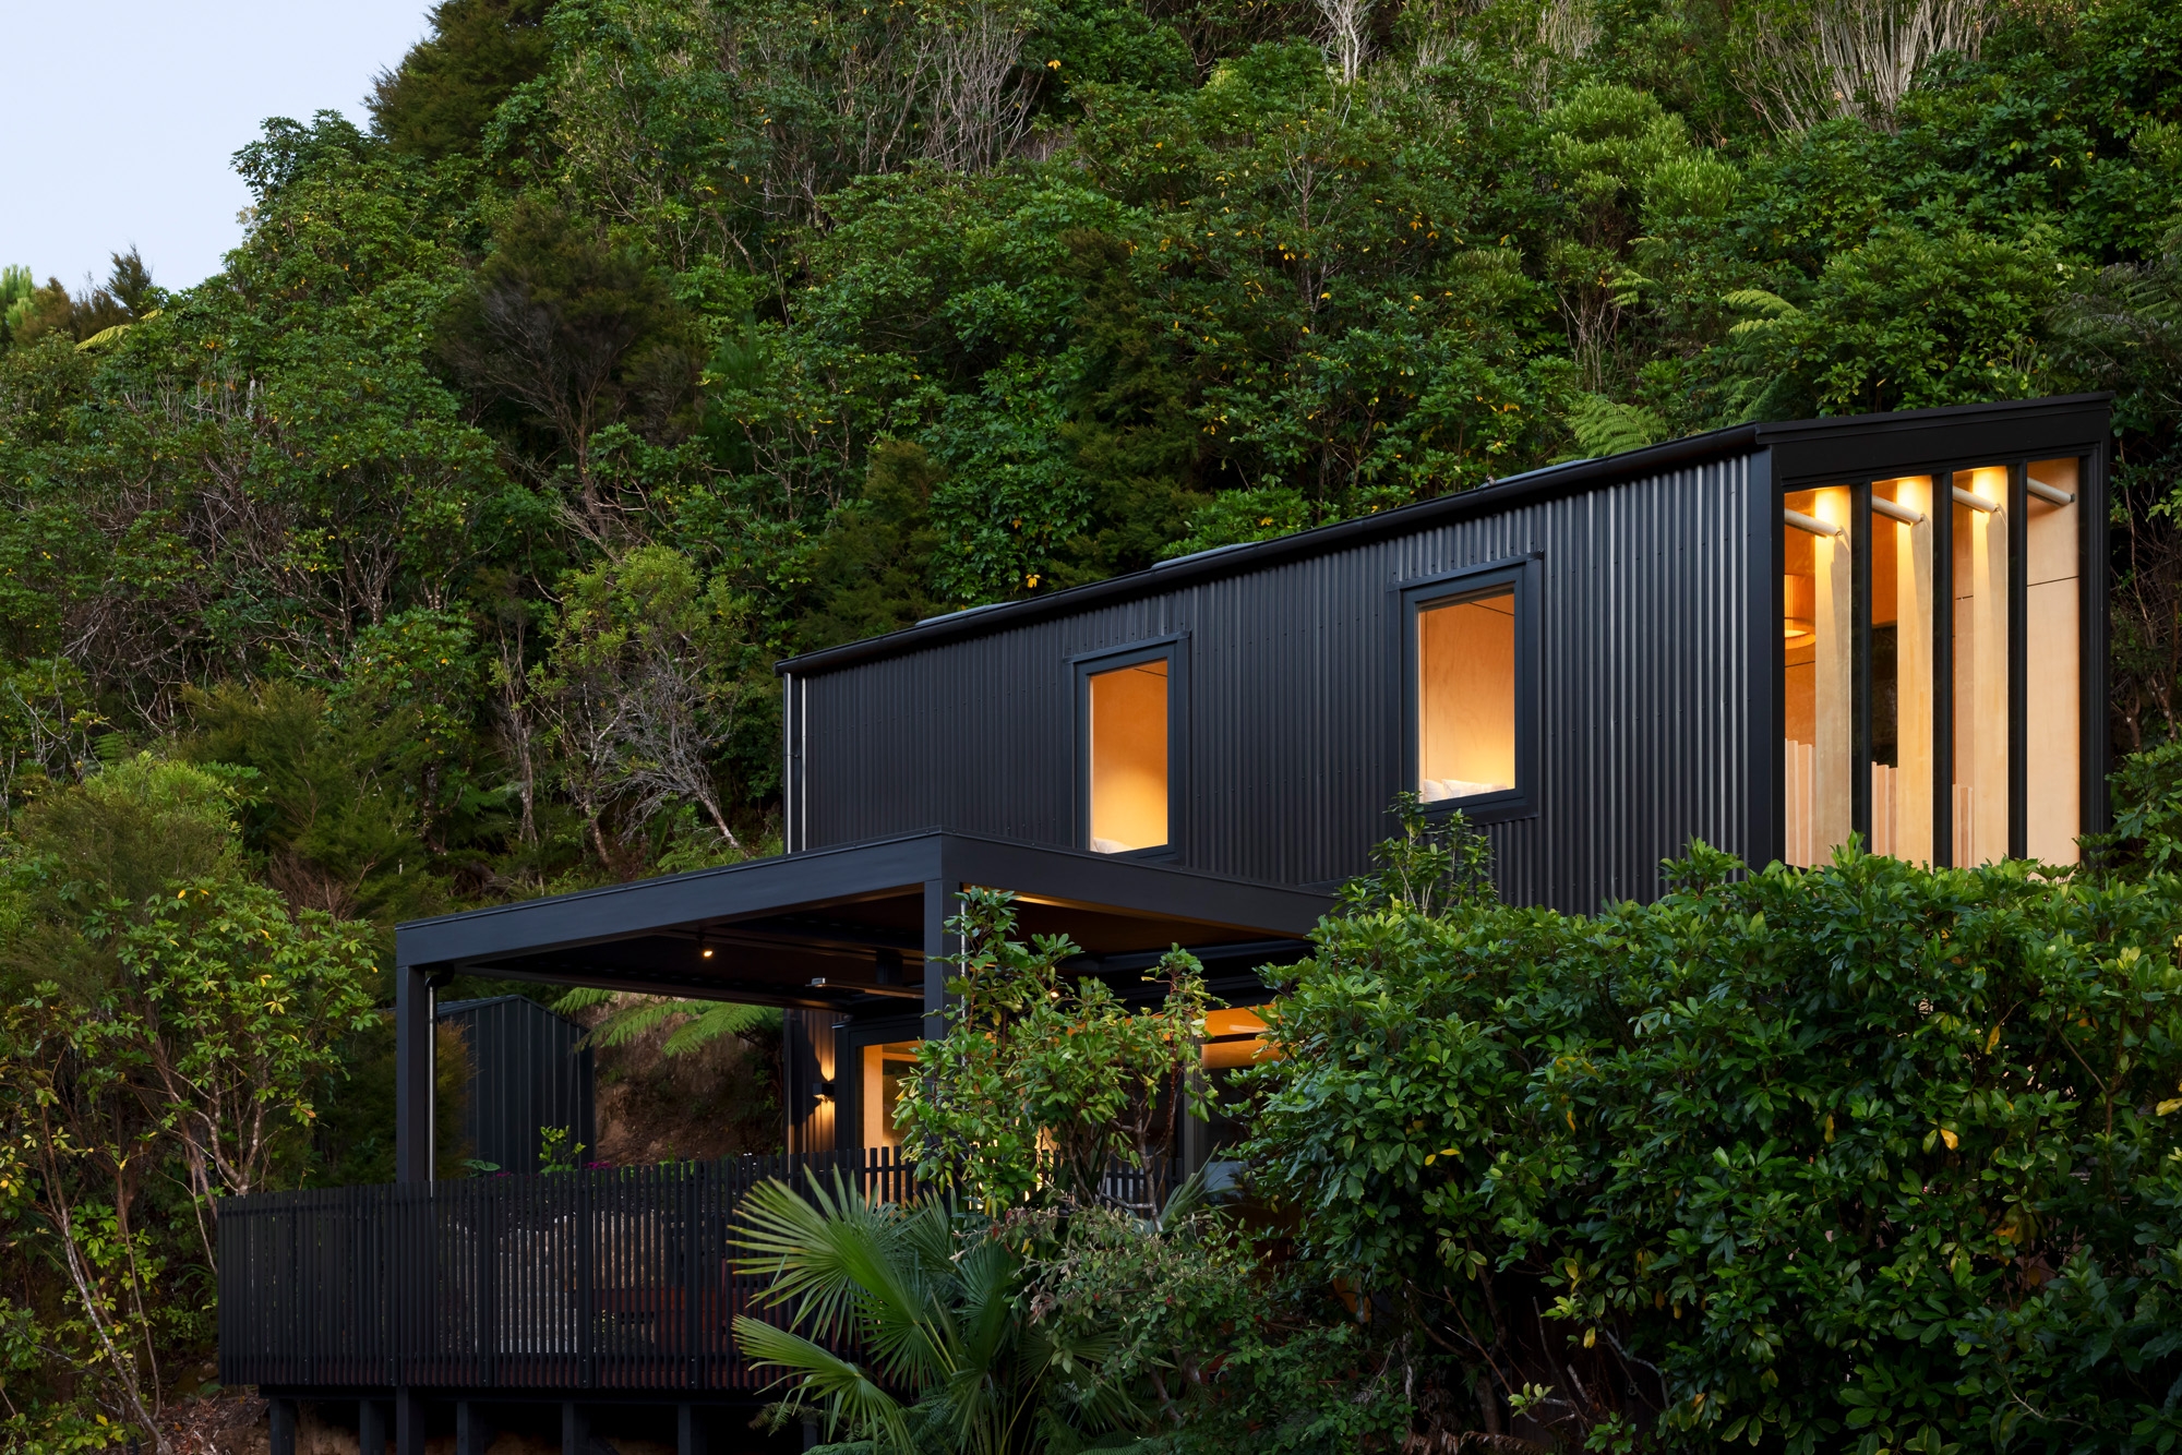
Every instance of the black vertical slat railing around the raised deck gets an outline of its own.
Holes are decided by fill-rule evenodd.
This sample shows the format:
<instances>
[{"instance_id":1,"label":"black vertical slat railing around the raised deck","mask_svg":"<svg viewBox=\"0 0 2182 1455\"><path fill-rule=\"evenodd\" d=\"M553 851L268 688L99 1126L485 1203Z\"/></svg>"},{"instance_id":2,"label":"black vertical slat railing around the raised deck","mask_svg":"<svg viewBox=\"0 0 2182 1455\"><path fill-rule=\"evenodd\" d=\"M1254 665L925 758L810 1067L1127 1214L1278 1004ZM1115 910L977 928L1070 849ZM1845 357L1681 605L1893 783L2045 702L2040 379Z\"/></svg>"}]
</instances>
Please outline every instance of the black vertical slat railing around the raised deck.
<instances>
[{"instance_id":1,"label":"black vertical slat railing around the raised deck","mask_svg":"<svg viewBox=\"0 0 2182 1455\"><path fill-rule=\"evenodd\" d=\"M220 1383L286 1387L759 1390L740 1313L777 1320L733 1267L759 1182L840 1174L914 1193L892 1150L740 1156L220 1202ZM1165 1167L1102 1193L1156 1204Z\"/></svg>"}]
</instances>

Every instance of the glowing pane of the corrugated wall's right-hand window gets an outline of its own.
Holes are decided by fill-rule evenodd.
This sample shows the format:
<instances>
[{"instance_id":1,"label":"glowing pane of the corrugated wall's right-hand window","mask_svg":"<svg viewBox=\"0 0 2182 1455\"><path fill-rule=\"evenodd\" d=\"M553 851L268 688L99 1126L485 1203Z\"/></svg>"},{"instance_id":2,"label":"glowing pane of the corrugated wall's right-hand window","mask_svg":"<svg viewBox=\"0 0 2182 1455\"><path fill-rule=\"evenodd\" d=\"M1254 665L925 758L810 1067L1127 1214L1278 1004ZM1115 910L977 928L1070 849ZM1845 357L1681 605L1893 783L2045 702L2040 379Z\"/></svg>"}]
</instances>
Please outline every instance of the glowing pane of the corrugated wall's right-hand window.
<instances>
[{"instance_id":1,"label":"glowing pane of the corrugated wall's right-hand window","mask_svg":"<svg viewBox=\"0 0 2182 1455\"><path fill-rule=\"evenodd\" d=\"M1416 794L1516 787L1514 587L1416 609Z\"/></svg>"}]
</instances>

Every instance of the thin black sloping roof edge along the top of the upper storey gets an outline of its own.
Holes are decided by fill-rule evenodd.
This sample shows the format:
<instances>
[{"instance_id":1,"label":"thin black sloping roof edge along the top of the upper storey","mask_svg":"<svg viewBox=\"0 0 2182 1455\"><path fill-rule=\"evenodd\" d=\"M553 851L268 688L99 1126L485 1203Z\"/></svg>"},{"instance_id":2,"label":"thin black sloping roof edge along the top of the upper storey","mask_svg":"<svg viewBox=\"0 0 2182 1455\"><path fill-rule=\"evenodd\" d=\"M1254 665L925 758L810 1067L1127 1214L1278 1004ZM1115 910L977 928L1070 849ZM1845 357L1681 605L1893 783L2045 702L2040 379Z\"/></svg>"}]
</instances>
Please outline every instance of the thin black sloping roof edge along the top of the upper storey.
<instances>
[{"instance_id":1,"label":"thin black sloping roof edge along the top of the upper storey","mask_svg":"<svg viewBox=\"0 0 2182 1455\"><path fill-rule=\"evenodd\" d=\"M1488 480L1486 484L1468 491L1436 495L1416 504L1379 510L1375 515L1359 515L1357 519L1335 521L1331 526L1298 530L1270 541L1246 541L1202 550L1189 556L1176 556L1174 561L1161 561L1159 565L1141 572L1108 576L1106 580L1093 580L1089 585L1069 587L1067 591L1054 591L1050 596L964 606L962 611L925 617L916 626L906 626L879 637L864 637L862 641L847 641L820 652L788 657L777 661L772 670L779 674L831 672L860 661L873 661L877 657L895 657L899 652L914 652L943 641L982 637L1010 626L1021 626L1026 622L1069 615L1104 602L1156 596L1183 585L1196 585L1222 576L1242 576L1266 565L1322 556L1348 545L1403 534L1440 521L1492 515L1512 506L1610 486L1623 480L1658 473L1661 469L1674 465L1698 465L1735 454L1752 454L1772 445L1807 445L1837 436L1883 438L1918 434L1935 428L1946 430L1953 425L1975 425L1994 419L2036 421L2066 414L2090 414L2103 412L2103 406L2110 399L2110 393L2058 395L2049 399L1957 404L1940 410L1894 410L1885 414L1837 414L1826 419L1728 425L1726 430L1709 430L1704 434L1630 449L1626 454L1545 465L1540 469L1523 471L1521 476ZM2001 449L1997 449L1997 454L1999 452Z\"/></svg>"}]
</instances>

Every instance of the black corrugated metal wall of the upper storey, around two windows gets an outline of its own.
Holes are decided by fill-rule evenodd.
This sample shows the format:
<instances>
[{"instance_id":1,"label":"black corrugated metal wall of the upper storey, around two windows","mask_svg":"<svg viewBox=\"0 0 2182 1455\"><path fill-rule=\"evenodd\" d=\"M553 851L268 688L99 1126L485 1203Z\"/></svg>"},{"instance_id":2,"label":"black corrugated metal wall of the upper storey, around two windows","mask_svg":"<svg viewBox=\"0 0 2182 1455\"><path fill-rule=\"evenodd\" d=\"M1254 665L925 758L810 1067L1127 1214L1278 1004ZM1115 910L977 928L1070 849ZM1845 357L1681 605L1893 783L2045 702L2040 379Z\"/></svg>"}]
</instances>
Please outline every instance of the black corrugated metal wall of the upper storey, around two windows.
<instances>
[{"instance_id":1,"label":"black corrugated metal wall of the upper storey, around two windows","mask_svg":"<svg viewBox=\"0 0 2182 1455\"><path fill-rule=\"evenodd\" d=\"M1750 681L1752 458L796 676L794 849L923 827L1074 844L1071 659L1187 633L1180 862L1344 879L1368 868L1403 777L1399 587L1536 556L1538 811L1490 825L1501 892L1652 899L1691 838L1752 851L1752 711L1770 702Z\"/></svg>"}]
</instances>

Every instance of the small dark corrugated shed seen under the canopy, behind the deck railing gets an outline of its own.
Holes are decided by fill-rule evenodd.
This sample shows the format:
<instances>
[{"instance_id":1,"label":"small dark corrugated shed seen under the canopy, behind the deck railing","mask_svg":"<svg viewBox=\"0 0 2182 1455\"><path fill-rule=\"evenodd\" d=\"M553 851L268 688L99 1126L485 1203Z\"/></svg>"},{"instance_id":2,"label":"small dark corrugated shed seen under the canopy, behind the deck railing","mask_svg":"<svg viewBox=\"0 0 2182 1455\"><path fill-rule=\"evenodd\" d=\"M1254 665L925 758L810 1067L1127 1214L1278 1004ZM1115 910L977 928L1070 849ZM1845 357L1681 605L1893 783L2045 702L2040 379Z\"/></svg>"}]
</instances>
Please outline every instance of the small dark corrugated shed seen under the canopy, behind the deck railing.
<instances>
[{"instance_id":1,"label":"small dark corrugated shed seen under the canopy, behind the deck railing","mask_svg":"<svg viewBox=\"0 0 2182 1455\"><path fill-rule=\"evenodd\" d=\"M449 1001L439 1019L469 1047L469 1156L500 1171L537 1171L546 1128L570 1128L572 1141L589 1147L585 1161L596 1156L596 1082L580 1025L521 995Z\"/></svg>"}]
</instances>

